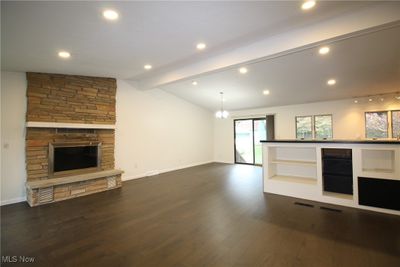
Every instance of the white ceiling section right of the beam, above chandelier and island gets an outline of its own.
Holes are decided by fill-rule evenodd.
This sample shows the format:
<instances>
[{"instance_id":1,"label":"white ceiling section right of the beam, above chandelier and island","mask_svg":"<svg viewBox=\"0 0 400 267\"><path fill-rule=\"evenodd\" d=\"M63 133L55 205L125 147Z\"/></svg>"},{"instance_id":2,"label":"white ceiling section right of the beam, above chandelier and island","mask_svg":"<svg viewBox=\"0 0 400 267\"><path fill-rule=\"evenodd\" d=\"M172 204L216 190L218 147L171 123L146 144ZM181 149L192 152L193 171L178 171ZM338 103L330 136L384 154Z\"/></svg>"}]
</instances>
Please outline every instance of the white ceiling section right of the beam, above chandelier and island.
<instances>
[{"instance_id":1,"label":"white ceiling section right of the beam, above chandelier and island","mask_svg":"<svg viewBox=\"0 0 400 267\"><path fill-rule=\"evenodd\" d=\"M329 43L238 68L179 81L162 89L210 110L271 107L400 92L400 26ZM328 86L330 78L337 80ZM197 86L191 83L198 82ZM270 90L264 96L263 90Z\"/></svg>"}]
</instances>

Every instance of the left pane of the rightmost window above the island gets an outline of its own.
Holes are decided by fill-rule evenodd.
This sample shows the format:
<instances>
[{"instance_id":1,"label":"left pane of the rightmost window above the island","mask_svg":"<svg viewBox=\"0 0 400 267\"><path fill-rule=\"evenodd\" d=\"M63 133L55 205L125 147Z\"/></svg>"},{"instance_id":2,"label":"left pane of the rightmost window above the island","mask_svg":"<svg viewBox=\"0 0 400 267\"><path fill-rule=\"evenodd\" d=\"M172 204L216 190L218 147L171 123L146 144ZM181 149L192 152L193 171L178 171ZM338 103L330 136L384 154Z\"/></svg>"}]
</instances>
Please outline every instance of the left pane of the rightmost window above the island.
<instances>
[{"instance_id":1,"label":"left pane of the rightmost window above the island","mask_svg":"<svg viewBox=\"0 0 400 267\"><path fill-rule=\"evenodd\" d=\"M365 136L388 138L388 112L365 112Z\"/></svg>"}]
</instances>

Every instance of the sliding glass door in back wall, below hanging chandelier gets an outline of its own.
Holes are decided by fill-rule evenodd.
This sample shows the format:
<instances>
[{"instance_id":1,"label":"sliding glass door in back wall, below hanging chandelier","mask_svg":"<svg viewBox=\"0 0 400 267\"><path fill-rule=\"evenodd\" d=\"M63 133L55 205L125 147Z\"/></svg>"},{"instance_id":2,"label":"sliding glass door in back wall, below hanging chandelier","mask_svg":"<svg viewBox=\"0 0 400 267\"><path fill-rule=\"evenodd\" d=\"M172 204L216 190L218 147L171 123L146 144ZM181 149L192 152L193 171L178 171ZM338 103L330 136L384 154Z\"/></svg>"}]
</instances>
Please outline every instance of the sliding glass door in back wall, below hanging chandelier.
<instances>
[{"instance_id":1,"label":"sliding glass door in back wall, below hanging chandelier","mask_svg":"<svg viewBox=\"0 0 400 267\"><path fill-rule=\"evenodd\" d=\"M267 138L266 119L240 119L234 121L235 163L262 164L260 140Z\"/></svg>"}]
</instances>

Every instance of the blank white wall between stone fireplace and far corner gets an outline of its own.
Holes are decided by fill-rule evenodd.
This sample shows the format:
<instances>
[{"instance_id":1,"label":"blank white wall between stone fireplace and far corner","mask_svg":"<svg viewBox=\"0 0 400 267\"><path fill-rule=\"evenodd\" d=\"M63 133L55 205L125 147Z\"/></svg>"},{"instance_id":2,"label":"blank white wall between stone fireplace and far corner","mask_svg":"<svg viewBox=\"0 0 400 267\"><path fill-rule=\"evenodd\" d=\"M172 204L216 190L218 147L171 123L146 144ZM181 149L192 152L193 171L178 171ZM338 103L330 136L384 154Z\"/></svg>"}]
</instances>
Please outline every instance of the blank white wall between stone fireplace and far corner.
<instances>
[{"instance_id":1,"label":"blank white wall between stone fireplace and far corner","mask_svg":"<svg viewBox=\"0 0 400 267\"><path fill-rule=\"evenodd\" d=\"M116 167L123 179L213 161L213 114L162 90L117 84Z\"/></svg>"}]
</instances>

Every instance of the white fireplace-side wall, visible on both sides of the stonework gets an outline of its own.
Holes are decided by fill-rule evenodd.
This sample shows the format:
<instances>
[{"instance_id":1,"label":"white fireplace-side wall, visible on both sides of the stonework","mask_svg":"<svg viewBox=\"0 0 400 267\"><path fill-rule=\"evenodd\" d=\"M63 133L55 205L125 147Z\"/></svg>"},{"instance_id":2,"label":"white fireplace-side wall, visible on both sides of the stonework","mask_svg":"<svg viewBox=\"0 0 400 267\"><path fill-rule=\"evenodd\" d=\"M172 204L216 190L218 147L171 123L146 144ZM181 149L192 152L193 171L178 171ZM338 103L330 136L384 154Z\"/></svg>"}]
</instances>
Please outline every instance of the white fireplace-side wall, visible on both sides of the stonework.
<instances>
[{"instance_id":1,"label":"white fireplace-side wall, visible on both sides of the stonework","mask_svg":"<svg viewBox=\"0 0 400 267\"><path fill-rule=\"evenodd\" d=\"M115 165L123 179L213 161L213 114L117 81ZM25 200L25 73L1 72L1 204Z\"/></svg>"}]
</instances>

